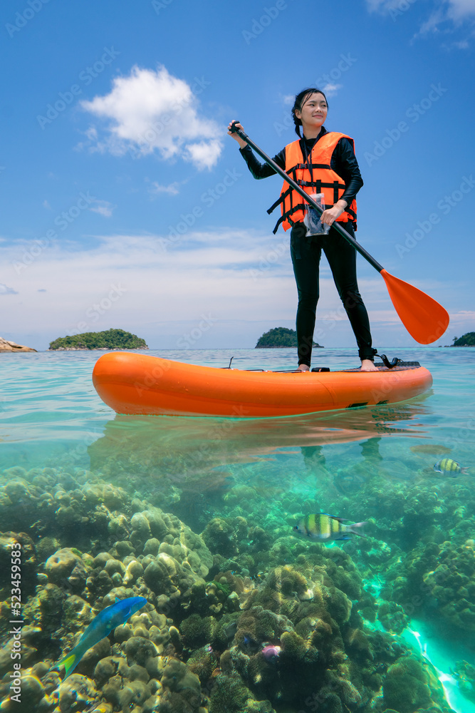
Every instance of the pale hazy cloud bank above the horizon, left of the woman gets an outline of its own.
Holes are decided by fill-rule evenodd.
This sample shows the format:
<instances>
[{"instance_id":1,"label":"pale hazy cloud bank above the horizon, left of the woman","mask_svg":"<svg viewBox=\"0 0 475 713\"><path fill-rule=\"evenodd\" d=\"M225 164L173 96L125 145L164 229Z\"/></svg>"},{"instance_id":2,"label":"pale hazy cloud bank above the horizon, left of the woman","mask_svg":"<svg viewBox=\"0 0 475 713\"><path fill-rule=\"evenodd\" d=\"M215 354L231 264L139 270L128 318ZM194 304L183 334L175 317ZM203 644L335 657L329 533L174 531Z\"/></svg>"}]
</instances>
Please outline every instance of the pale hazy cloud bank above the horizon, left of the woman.
<instances>
[{"instance_id":1,"label":"pale hazy cloud bank above the horizon, left of the woman","mask_svg":"<svg viewBox=\"0 0 475 713\"><path fill-rule=\"evenodd\" d=\"M211 313L226 323L232 319L265 319L266 323L272 317L295 319L288 255L279 259L285 267L269 263L271 275L264 271L254 279L250 272L269 250L268 235L253 240L253 235L244 231L190 232L182 244L167 251L161 237L110 235L98 238L90 248L52 241L16 276L22 300L4 314L4 332L19 338L21 324L25 334L39 333L32 344L43 349L52 339L74 330L120 327L145 334L155 346L160 345L160 334L176 335L167 337L174 340L173 346L185 326L192 329L202 314ZM22 247L19 243L0 245L0 259L13 274ZM38 289L45 284L48 292L38 299ZM110 299L114 286L118 289Z\"/></svg>"}]
</instances>

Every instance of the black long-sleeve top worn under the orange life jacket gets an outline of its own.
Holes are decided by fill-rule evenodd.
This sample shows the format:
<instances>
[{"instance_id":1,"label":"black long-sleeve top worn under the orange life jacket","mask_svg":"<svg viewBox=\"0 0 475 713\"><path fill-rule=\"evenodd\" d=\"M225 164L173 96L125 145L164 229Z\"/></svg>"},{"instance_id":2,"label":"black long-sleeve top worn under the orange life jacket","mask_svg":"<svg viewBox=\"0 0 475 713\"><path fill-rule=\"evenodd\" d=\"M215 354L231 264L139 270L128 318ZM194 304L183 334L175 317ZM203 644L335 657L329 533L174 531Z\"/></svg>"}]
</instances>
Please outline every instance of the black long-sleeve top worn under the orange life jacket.
<instances>
[{"instance_id":1,"label":"black long-sleeve top worn under the orange life jacket","mask_svg":"<svg viewBox=\"0 0 475 713\"><path fill-rule=\"evenodd\" d=\"M327 130L325 129L325 126L322 126L316 141L318 141L325 133L327 133ZM301 138L300 145L302 155L304 157L310 155L316 141L314 138ZM244 148L240 148L239 150L254 178L267 178L268 176L277 173L267 163L261 163L259 159L256 158L251 147L249 146L249 143L244 146ZM273 157L273 160L285 171L286 149L283 148L276 156ZM363 181L361 178L360 167L358 166L355 152L353 150L353 145L348 138L340 138L338 141L330 161L330 168L332 168L335 173L338 173L338 175L343 179L343 182L345 183L345 191L343 195L340 196L340 199L343 198L343 200L346 200L347 205L350 205L352 200L355 198L355 195L362 187Z\"/></svg>"}]
</instances>

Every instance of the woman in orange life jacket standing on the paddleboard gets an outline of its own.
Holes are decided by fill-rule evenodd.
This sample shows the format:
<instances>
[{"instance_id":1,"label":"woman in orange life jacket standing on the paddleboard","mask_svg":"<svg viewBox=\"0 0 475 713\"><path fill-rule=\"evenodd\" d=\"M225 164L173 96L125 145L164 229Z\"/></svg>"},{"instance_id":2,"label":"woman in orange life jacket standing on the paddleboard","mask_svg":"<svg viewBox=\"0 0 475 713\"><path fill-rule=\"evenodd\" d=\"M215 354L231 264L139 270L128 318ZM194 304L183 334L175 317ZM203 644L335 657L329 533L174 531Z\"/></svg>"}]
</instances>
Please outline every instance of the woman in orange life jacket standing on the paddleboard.
<instances>
[{"instance_id":1,"label":"woman in orange life jacket standing on the paddleboard","mask_svg":"<svg viewBox=\"0 0 475 713\"><path fill-rule=\"evenodd\" d=\"M291 257L293 273L298 290L297 341L298 368L310 369L315 313L319 297L318 272L321 252L325 252L335 280L338 294L343 302L355 334L362 371L377 371L374 364L376 349L372 349L370 322L365 305L358 291L356 278L356 251L335 229L340 222L350 235L356 230L355 195L363 185L353 146L353 139L346 134L327 131L323 123L328 113L328 103L323 91L308 88L296 96L292 108L293 121L299 139L286 145L274 156L277 165L286 170L306 193L324 193L326 207L321 220L330 226L328 235L307 237L303 224L304 201L284 181L281 197L269 209L281 205L278 225L284 230L291 227ZM262 164L252 153L251 147L236 133L228 133L239 143L239 150L254 178L267 178L276 173L271 166ZM300 133L302 127L303 136Z\"/></svg>"}]
</instances>

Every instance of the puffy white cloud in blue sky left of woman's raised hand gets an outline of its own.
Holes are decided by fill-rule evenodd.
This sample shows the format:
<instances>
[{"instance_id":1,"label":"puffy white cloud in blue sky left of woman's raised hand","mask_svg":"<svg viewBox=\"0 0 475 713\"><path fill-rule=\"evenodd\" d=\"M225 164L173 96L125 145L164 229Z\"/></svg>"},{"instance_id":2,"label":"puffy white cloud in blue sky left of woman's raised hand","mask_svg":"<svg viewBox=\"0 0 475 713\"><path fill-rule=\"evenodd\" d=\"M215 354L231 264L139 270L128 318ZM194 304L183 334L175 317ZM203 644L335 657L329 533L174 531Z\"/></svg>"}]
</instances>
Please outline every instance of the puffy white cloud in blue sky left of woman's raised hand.
<instances>
[{"instance_id":1,"label":"puffy white cloud in blue sky left of woman's raised hand","mask_svg":"<svg viewBox=\"0 0 475 713\"><path fill-rule=\"evenodd\" d=\"M194 86L203 91L202 83ZM88 145L118 156L129 150L135 156L155 153L162 160L182 158L199 170L210 169L221 153L223 131L214 120L199 116L197 93L164 66L157 71L135 66L129 76L113 80L109 94L81 102L109 125L102 140L91 127L88 141L78 148Z\"/></svg>"}]
</instances>

